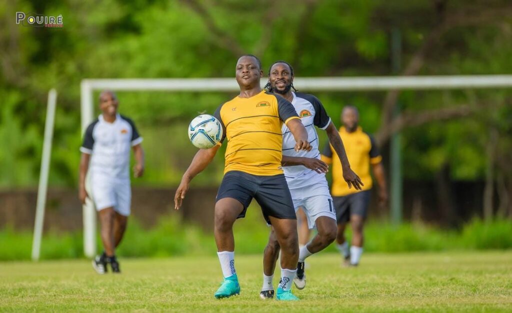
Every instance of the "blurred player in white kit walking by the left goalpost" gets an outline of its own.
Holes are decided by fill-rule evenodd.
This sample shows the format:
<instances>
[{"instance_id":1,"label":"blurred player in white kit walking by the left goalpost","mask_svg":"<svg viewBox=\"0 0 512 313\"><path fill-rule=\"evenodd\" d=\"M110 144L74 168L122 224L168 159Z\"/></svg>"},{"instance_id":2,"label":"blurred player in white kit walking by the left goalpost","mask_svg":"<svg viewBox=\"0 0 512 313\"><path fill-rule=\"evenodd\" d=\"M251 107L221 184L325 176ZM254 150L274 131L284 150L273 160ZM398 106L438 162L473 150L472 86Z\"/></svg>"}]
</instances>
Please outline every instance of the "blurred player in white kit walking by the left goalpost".
<instances>
[{"instance_id":1,"label":"blurred player in white kit walking by the left goalpost","mask_svg":"<svg viewBox=\"0 0 512 313\"><path fill-rule=\"evenodd\" d=\"M80 159L79 198L82 203L89 197L86 191L86 175L90 168L92 199L101 223L101 241L104 251L93 260L96 272L104 274L106 265L119 273L115 248L121 242L130 215L130 150L133 149L136 164L134 176L144 173L142 137L129 118L119 115L119 101L111 91L99 96L101 115L93 121L83 137Z\"/></svg>"}]
</instances>

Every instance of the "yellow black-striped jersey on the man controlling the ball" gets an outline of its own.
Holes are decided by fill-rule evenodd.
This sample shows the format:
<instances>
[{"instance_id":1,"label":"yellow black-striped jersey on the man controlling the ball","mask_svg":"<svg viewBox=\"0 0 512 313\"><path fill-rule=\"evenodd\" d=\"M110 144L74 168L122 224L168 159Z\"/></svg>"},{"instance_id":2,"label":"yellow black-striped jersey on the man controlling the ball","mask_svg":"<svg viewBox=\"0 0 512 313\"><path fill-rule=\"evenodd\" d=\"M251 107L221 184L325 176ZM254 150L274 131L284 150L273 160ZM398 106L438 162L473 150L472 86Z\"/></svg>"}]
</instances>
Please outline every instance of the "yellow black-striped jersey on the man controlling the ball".
<instances>
[{"instance_id":1,"label":"yellow black-striped jersey on the man controlling the ball","mask_svg":"<svg viewBox=\"0 0 512 313\"><path fill-rule=\"evenodd\" d=\"M283 122L298 118L290 102L262 91L250 98L237 96L217 108L214 115L222 123L227 138L224 174L283 174L281 127Z\"/></svg>"}]
</instances>

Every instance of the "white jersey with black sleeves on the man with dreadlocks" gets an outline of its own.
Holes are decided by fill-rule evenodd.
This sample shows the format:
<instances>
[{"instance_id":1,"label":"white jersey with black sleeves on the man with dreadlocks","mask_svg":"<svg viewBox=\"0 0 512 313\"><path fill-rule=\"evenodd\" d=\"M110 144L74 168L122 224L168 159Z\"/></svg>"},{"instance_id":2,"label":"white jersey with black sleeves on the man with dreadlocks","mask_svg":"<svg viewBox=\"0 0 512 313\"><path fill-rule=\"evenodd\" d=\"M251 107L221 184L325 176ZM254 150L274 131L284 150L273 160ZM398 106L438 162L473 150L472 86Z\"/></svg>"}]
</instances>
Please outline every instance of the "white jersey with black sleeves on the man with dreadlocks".
<instances>
[{"instance_id":1,"label":"white jersey with black sleeves on the man with dreadlocks","mask_svg":"<svg viewBox=\"0 0 512 313\"><path fill-rule=\"evenodd\" d=\"M308 131L311 151L301 150L296 152L294 150L295 138L293 138L288 127L283 124L283 155L320 159L318 135L316 134L315 126L325 130L331 123L331 118L327 115L322 102L315 96L298 92L292 92L292 94L293 100L291 103ZM290 190L314 184L318 180L325 180L325 174L318 174L303 165L283 166L283 170Z\"/></svg>"}]
</instances>

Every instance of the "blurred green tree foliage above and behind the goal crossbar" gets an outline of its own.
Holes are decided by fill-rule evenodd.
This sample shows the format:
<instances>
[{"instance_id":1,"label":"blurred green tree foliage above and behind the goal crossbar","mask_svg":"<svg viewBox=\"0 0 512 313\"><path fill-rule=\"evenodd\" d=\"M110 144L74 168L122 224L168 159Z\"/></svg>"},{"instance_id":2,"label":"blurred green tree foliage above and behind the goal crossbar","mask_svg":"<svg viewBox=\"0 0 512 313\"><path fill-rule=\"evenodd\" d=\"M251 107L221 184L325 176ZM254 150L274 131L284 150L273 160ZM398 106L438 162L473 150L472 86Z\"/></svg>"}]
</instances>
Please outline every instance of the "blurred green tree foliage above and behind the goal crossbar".
<instances>
[{"instance_id":1,"label":"blurred green tree foliage above and behind the goal crossbar","mask_svg":"<svg viewBox=\"0 0 512 313\"><path fill-rule=\"evenodd\" d=\"M257 53L264 71L276 59L292 63L297 76L389 75L389 33L402 32L405 66L425 44L439 20L431 1L199 1L199 14L186 1L123 2L86 5L76 1L20 0L0 4L2 20L15 11L62 14L62 29L9 24L0 34L0 96L3 99L0 139L0 187L37 183L40 150L50 88L59 92L50 184L77 183L80 145L79 84L83 78L233 77L242 52ZM507 8L493 2L489 10ZM447 13L483 12L486 2L450 2ZM290 8L293 8L291 10ZM494 14L493 13L493 14ZM455 14L457 18L463 13ZM466 14L466 15L473 15ZM208 17L205 17L208 16ZM420 74L500 74L512 72L509 19L462 22L433 43ZM450 20L449 17L446 17ZM457 23L455 23L457 25ZM301 86L296 86L301 89ZM385 93L319 93L339 126L339 112L350 103L359 108L365 130L380 127ZM96 97L97 95L95 95ZM142 130L148 149L147 177L138 183L176 185L194 148L186 126L199 112L212 113L233 97L229 93L120 92L120 110ZM507 93L407 92L400 105L421 112L462 103L506 103ZM472 120L433 122L403 132L407 178L430 179L449 164L454 179L482 179L490 124L503 124L500 146L509 144L506 114L487 112ZM487 116L488 115L488 116ZM504 140L503 140L504 138ZM164 142L163 147L158 142ZM156 155L160 156L156 156ZM218 183L223 160L217 159L199 184Z\"/></svg>"}]
</instances>

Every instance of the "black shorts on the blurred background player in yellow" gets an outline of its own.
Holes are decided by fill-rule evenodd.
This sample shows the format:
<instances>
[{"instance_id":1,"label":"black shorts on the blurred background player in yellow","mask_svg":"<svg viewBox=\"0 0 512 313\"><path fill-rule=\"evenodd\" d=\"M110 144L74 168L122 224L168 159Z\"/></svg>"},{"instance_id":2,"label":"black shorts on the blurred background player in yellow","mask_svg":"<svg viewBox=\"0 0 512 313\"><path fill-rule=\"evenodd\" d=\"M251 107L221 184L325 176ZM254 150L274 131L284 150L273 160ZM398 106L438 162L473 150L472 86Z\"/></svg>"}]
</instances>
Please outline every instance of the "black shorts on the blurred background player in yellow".
<instances>
[{"instance_id":1,"label":"black shorts on the blurred background player in yellow","mask_svg":"<svg viewBox=\"0 0 512 313\"><path fill-rule=\"evenodd\" d=\"M364 190L343 197L332 197L338 224L350 221L351 215L359 215L362 218L366 218L370 196L371 191Z\"/></svg>"}]
</instances>

